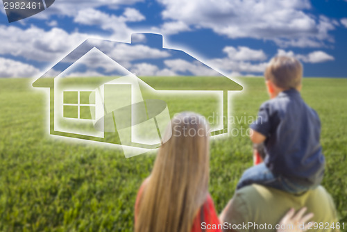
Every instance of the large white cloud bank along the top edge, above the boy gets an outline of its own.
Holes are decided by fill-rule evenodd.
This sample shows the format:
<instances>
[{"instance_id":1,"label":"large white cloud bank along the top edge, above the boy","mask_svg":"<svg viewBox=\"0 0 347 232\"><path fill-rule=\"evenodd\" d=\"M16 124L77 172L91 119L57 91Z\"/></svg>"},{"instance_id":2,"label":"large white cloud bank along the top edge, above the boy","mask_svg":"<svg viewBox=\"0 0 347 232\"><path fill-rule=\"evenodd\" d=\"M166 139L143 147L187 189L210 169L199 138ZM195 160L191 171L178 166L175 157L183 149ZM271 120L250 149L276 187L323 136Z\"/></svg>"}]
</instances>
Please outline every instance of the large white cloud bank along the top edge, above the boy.
<instances>
[{"instance_id":1,"label":"large white cloud bank along the top edge, above the boy","mask_svg":"<svg viewBox=\"0 0 347 232\"><path fill-rule=\"evenodd\" d=\"M315 18L305 13L311 8L309 0L157 1L164 6L164 19L210 28L228 38L273 40L282 47L321 47L332 42L329 32L336 26L327 17ZM175 33L175 28L171 33Z\"/></svg>"}]
</instances>

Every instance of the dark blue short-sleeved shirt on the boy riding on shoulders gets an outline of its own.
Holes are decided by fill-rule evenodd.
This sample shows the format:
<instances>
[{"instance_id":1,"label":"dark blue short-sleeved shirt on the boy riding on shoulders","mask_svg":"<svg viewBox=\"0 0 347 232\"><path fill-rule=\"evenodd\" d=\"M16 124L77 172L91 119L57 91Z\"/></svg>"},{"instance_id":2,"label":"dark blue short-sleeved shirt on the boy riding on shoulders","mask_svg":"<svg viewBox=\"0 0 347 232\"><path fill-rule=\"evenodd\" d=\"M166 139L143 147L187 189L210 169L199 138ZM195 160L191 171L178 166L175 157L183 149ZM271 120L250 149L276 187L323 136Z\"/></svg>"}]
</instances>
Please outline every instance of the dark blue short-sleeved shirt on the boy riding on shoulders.
<instances>
[{"instance_id":1,"label":"dark blue short-sleeved shirt on the boy riding on shoulders","mask_svg":"<svg viewBox=\"0 0 347 232\"><path fill-rule=\"evenodd\" d=\"M280 92L263 103L251 129L266 136L264 162L273 174L310 185L321 182L325 169L321 122L298 90Z\"/></svg>"}]
</instances>

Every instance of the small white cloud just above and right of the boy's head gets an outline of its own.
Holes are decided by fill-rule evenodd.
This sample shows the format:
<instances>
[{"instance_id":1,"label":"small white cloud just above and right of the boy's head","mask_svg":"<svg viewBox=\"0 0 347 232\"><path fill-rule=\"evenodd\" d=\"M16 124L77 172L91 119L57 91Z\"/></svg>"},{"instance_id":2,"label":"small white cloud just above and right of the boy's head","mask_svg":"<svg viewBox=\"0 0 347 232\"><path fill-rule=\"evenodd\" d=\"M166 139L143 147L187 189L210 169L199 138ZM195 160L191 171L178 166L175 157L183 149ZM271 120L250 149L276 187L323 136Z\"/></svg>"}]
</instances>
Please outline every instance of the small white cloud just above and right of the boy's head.
<instances>
[{"instance_id":1,"label":"small white cloud just above and right of the boy's head","mask_svg":"<svg viewBox=\"0 0 347 232\"><path fill-rule=\"evenodd\" d=\"M278 49L279 56L293 56L298 60L301 60L305 63L323 63L330 60L335 60L335 58L324 51L312 51L307 55L295 54L293 51L284 51L282 49Z\"/></svg>"}]
</instances>

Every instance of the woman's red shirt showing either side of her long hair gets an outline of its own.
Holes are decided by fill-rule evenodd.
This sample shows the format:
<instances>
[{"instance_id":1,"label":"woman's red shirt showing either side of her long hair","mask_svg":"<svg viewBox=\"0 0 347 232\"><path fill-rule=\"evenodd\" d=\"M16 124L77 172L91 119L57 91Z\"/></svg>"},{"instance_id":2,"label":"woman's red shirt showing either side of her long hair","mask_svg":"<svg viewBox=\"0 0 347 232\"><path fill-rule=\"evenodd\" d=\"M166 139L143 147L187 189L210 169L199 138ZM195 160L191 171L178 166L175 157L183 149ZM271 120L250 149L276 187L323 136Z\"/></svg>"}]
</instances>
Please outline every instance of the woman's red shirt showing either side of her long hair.
<instances>
[{"instance_id":1,"label":"woman's red shirt showing either side of her long hair","mask_svg":"<svg viewBox=\"0 0 347 232\"><path fill-rule=\"evenodd\" d=\"M135 202L135 222L136 217L139 209L139 199L142 195L142 192L144 191L144 187L148 183L149 179L144 180L141 187L139 188L139 192L137 192L136 202ZM203 229L205 229L206 232L221 232L221 229L218 229L221 225L219 222L216 210L214 208L214 203L212 200L212 197L210 194L208 194L208 197L206 197L206 201L203 204L203 216L204 216L204 222ZM219 226L218 226L219 225ZM192 226L191 232L201 232L202 225L201 225L201 208L198 210L198 213L195 216L194 223Z\"/></svg>"}]
</instances>

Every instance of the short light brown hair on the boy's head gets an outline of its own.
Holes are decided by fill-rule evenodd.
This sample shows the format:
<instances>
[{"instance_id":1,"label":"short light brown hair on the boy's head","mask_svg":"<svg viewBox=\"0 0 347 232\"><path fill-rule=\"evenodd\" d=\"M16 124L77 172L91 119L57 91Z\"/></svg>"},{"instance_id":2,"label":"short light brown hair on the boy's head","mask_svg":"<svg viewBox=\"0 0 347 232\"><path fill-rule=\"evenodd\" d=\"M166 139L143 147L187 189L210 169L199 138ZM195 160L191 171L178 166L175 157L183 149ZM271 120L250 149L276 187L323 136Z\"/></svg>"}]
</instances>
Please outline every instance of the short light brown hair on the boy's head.
<instances>
[{"instance_id":1,"label":"short light brown hair on the boy's head","mask_svg":"<svg viewBox=\"0 0 347 232\"><path fill-rule=\"evenodd\" d=\"M298 88L303 77L303 65L294 57L275 56L266 67L264 76L278 88Z\"/></svg>"}]
</instances>

